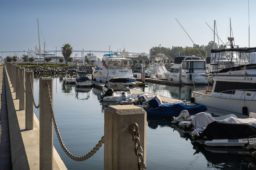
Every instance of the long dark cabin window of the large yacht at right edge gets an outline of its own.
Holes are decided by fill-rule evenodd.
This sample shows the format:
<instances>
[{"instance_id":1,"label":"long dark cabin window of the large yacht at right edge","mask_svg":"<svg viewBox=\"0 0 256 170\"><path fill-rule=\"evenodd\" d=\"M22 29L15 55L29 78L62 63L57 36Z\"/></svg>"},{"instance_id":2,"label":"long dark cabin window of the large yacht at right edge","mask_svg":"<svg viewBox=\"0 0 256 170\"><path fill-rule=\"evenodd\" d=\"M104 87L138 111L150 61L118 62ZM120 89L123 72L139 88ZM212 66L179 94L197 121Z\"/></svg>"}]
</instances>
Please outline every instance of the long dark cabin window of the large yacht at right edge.
<instances>
[{"instance_id":1,"label":"long dark cabin window of the large yacht at right edge","mask_svg":"<svg viewBox=\"0 0 256 170\"><path fill-rule=\"evenodd\" d=\"M225 93L225 94L235 94L235 90L249 90L256 91L255 83L247 83L247 82L221 82L216 81L214 92Z\"/></svg>"}]
</instances>

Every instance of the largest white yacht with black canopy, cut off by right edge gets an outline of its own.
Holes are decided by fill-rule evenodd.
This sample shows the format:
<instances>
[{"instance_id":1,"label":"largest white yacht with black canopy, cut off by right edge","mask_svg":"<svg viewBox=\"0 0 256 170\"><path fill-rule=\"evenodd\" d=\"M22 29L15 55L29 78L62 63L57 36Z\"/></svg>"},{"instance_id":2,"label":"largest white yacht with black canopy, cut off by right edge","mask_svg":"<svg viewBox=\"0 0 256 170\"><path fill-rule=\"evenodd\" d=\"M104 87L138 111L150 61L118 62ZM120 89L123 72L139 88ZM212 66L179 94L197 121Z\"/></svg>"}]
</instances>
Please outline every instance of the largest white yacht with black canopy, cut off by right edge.
<instances>
[{"instance_id":1,"label":"largest white yacht with black canopy, cut off by right edge","mask_svg":"<svg viewBox=\"0 0 256 170\"><path fill-rule=\"evenodd\" d=\"M234 67L213 71L212 91L193 91L195 103L234 113L256 112L256 48L212 49Z\"/></svg>"}]
</instances>

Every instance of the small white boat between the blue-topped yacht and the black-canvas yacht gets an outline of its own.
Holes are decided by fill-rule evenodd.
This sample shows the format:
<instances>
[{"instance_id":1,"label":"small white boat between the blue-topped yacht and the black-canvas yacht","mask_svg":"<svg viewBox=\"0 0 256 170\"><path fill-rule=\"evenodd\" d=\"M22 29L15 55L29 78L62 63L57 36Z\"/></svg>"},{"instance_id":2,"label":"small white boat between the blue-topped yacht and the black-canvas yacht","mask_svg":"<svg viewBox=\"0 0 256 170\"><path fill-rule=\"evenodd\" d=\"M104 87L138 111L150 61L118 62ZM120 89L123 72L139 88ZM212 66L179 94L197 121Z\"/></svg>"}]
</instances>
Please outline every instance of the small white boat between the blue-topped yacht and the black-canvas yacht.
<instances>
[{"instance_id":1,"label":"small white boat between the blue-topped yacht and the black-canvas yacht","mask_svg":"<svg viewBox=\"0 0 256 170\"><path fill-rule=\"evenodd\" d=\"M155 57L152 60L147 70L145 70L145 73L147 73L150 77L151 75L155 75L158 78L165 78L164 73L167 72L167 70L164 66L164 60L163 60L164 58L161 57L160 55L157 55L157 56L159 57Z\"/></svg>"}]
</instances>

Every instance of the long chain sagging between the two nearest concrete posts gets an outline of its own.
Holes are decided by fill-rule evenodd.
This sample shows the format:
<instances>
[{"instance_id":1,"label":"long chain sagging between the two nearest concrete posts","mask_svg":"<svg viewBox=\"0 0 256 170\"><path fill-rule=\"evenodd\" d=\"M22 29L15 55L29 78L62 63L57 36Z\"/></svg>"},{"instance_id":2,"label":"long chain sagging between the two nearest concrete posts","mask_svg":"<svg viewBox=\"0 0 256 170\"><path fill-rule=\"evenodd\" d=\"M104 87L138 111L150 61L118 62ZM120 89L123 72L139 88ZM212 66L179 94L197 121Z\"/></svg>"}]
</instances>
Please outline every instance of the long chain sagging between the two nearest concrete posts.
<instances>
[{"instance_id":1,"label":"long chain sagging between the two nearest concrete posts","mask_svg":"<svg viewBox=\"0 0 256 170\"><path fill-rule=\"evenodd\" d=\"M58 130L55 114L54 114L54 111L53 111L51 93L50 93L50 88L49 88L48 82L47 82L46 86L47 86L47 94L48 94L48 101L49 101L49 105L50 105L50 111L51 111L51 115L52 115L52 122L53 122L53 125L54 125L54 128L55 128L56 135L58 137L58 141L61 145L61 148L64 150L64 152L67 154L67 156L70 157L71 159L73 159L74 161L85 161L85 160L89 159L91 156L93 156L99 150L100 147L102 147L102 144L104 144L104 136L102 136L102 138L98 142L98 144L96 144L96 146L93 147L93 149L90 152L88 152L86 155L84 155L84 156L75 156L72 153L70 153L70 151L67 150L67 147L65 146L65 144L64 144L64 142L61 138L61 134Z\"/></svg>"}]
</instances>

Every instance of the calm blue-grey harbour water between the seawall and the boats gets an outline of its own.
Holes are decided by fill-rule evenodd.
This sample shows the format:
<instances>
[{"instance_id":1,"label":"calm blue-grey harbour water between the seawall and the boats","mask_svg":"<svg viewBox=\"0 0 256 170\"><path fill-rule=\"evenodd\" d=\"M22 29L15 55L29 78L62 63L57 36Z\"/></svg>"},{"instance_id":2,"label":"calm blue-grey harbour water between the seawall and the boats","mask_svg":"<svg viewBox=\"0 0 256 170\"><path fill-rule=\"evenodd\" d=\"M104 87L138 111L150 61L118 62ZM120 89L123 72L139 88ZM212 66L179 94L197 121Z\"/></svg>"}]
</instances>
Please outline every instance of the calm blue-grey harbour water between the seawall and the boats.
<instances>
[{"instance_id":1,"label":"calm blue-grey harbour water between the seawall and the boats","mask_svg":"<svg viewBox=\"0 0 256 170\"><path fill-rule=\"evenodd\" d=\"M82 156L88 153L104 136L104 109L100 102L101 91L95 88L75 91L75 86L63 84L63 77L53 77L53 105L61 137L71 153ZM38 103L39 78L34 79L34 94ZM204 90L206 86L196 87ZM135 88L176 99L190 99L193 86L165 86L149 84L147 88ZM39 118L39 110L34 108ZM205 148L186 139L186 133L167 120L147 121L148 170L226 170L256 169L251 156L231 154ZM132 140L131 140L132 142ZM69 170L103 170L104 144L89 160L76 162L65 155L54 134L54 146ZM133 149L133 148L131 148ZM135 155L134 155L135 156Z\"/></svg>"}]
</instances>

